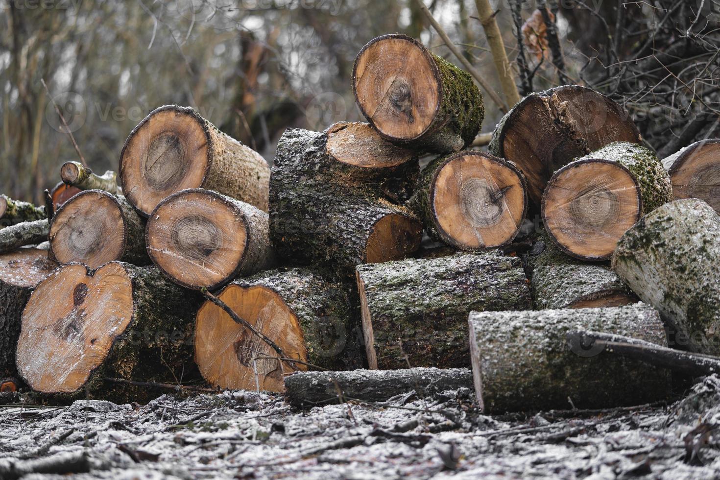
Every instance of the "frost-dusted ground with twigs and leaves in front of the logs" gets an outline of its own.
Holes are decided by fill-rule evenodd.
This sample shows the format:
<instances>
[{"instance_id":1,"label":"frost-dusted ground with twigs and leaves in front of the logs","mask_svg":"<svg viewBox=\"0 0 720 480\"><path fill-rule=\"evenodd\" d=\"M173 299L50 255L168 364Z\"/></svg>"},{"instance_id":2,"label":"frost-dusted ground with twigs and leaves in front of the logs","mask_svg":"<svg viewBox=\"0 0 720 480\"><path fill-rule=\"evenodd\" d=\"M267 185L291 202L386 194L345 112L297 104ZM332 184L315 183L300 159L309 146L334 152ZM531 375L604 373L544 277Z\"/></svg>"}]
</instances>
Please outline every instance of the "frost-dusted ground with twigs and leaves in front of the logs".
<instances>
[{"instance_id":1,"label":"frost-dusted ground with twigs and leaves in front of the logs","mask_svg":"<svg viewBox=\"0 0 720 480\"><path fill-rule=\"evenodd\" d=\"M469 389L297 410L252 391L0 409L0 479L716 479L720 378L670 407L487 417ZM45 474L44 472L51 472Z\"/></svg>"}]
</instances>

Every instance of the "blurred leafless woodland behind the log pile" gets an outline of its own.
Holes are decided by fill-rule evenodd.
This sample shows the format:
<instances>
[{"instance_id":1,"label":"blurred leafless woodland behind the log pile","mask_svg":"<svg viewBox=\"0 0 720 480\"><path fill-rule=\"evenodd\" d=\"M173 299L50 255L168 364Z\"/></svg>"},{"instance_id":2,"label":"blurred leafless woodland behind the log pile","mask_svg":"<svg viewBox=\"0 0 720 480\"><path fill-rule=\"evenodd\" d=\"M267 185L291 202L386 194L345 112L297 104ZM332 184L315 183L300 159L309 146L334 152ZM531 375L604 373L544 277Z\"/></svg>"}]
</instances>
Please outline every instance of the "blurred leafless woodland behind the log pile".
<instances>
[{"instance_id":1,"label":"blurred leafless woodland behind the log pile","mask_svg":"<svg viewBox=\"0 0 720 480\"><path fill-rule=\"evenodd\" d=\"M0 1L0 192L36 202L76 160L41 78L102 173L163 104L194 107L269 162L288 127L359 120L354 58L384 33L458 63L413 0ZM719 1L490 4L521 93L562 83L603 91L667 155L719 135ZM475 1L425 4L501 92ZM486 102L490 132L501 112Z\"/></svg>"}]
</instances>

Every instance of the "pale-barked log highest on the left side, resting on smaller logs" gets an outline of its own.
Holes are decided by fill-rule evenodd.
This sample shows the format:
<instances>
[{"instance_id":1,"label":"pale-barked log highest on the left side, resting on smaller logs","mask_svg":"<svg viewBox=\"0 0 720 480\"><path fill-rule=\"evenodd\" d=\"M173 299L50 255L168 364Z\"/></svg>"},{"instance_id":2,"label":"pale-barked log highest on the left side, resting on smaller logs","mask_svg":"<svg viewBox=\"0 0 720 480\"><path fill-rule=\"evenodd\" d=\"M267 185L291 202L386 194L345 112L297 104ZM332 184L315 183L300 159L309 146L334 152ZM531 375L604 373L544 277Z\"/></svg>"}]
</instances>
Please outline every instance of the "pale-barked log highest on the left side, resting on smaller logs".
<instances>
[{"instance_id":1,"label":"pale-barked log highest on the left side, resting on smaller logs","mask_svg":"<svg viewBox=\"0 0 720 480\"><path fill-rule=\"evenodd\" d=\"M127 201L147 217L161 200L203 188L267 212L270 168L259 153L192 108L166 105L150 112L120 153L120 184Z\"/></svg>"}]
</instances>

